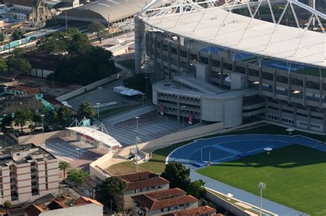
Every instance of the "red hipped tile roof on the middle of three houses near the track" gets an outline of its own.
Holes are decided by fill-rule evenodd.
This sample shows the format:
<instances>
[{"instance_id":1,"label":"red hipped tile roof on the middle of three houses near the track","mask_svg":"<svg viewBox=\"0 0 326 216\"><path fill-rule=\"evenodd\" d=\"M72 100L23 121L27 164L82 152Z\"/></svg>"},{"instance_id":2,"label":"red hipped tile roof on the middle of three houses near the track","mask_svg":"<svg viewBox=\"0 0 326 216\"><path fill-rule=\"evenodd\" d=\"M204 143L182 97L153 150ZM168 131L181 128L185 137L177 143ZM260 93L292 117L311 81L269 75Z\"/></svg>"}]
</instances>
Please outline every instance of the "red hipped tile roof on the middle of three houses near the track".
<instances>
[{"instance_id":1,"label":"red hipped tile roof on the middle of three houses near the track","mask_svg":"<svg viewBox=\"0 0 326 216\"><path fill-rule=\"evenodd\" d=\"M151 210L198 202L192 195L186 195L181 189L167 189L131 197L136 204Z\"/></svg>"}]
</instances>

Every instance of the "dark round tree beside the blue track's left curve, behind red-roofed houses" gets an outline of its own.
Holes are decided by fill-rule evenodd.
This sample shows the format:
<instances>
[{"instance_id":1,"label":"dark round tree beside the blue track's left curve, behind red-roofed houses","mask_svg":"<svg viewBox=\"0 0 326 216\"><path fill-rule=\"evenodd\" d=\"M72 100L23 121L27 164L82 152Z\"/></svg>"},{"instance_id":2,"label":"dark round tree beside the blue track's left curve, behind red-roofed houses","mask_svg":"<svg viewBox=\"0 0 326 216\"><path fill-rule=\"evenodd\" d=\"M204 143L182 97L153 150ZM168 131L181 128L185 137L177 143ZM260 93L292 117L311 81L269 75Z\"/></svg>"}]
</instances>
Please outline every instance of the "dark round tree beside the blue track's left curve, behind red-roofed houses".
<instances>
[{"instance_id":1,"label":"dark round tree beside the blue track's left curve, behind red-roofed houses","mask_svg":"<svg viewBox=\"0 0 326 216\"><path fill-rule=\"evenodd\" d=\"M168 163L161 176L170 181L171 188L178 187L186 190L191 182L189 178L190 169L186 169L184 165L178 162Z\"/></svg>"}]
</instances>

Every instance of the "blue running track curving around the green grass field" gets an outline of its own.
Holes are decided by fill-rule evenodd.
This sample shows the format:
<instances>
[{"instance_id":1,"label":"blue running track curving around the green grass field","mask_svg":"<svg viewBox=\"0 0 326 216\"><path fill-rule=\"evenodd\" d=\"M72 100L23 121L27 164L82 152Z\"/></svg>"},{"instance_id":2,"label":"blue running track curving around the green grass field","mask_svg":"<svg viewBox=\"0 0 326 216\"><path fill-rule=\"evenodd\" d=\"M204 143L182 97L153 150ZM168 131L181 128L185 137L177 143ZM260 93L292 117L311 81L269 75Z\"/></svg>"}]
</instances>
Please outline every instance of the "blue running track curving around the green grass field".
<instances>
[{"instance_id":1,"label":"blue running track curving around the green grass field","mask_svg":"<svg viewBox=\"0 0 326 216\"><path fill-rule=\"evenodd\" d=\"M325 143L309 139L305 136L283 136L283 135L231 135L217 136L210 139L198 139L193 143L188 143L182 147L175 149L166 158L166 163L177 161L191 169L191 180L202 179L206 182L205 186L209 189L219 191L220 193L232 193L238 200L247 202L254 206L259 206L259 196L248 193L241 189L231 187L207 176L197 173L198 169L193 167L193 163L200 161L210 161L213 164L223 163L239 158L239 154L257 154L264 152L265 147L277 149L292 144L305 145L326 152ZM276 202L263 199L263 209L277 215L305 215L287 206L283 206Z\"/></svg>"}]
</instances>

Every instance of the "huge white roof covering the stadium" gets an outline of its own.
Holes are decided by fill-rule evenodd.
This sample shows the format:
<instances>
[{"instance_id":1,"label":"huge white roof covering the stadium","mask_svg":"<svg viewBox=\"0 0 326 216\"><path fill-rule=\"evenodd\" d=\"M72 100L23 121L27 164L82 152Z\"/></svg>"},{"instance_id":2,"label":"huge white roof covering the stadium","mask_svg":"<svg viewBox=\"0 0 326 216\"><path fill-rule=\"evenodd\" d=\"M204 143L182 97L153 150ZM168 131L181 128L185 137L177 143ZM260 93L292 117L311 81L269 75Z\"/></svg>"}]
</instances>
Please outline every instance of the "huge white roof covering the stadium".
<instances>
[{"instance_id":1,"label":"huge white roof covering the stadium","mask_svg":"<svg viewBox=\"0 0 326 216\"><path fill-rule=\"evenodd\" d=\"M164 16L142 16L142 20L163 32L199 40L217 47L326 67L326 38L323 33L285 25L276 27L275 23L259 19L253 19L250 23L250 17L228 14L221 8L164 14ZM250 25L246 29L248 23Z\"/></svg>"}]
</instances>

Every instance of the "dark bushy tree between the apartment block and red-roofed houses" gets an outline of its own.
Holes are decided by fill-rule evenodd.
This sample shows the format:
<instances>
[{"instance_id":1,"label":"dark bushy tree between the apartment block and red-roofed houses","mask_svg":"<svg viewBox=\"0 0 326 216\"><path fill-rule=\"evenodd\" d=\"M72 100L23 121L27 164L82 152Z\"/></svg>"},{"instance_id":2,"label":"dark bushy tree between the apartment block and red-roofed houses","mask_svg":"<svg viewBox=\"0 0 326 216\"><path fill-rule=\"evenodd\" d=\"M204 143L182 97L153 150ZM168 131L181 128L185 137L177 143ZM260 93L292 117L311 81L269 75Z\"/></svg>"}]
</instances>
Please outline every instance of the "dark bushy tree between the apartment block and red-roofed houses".
<instances>
[{"instance_id":1,"label":"dark bushy tree between the apartment block and red-roofed houses","mask_svg":"<svg viewBox=\"0 0 326 216\"><path fill-rule=\"evenodd\" d=\"M127 187L121 178L112 176L96 186L95 198L113 211L123 210L123 191ZM112 206L111 206L112 204Z\"/></svg>"}]
</instances>

